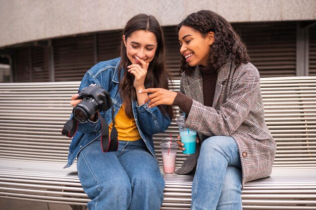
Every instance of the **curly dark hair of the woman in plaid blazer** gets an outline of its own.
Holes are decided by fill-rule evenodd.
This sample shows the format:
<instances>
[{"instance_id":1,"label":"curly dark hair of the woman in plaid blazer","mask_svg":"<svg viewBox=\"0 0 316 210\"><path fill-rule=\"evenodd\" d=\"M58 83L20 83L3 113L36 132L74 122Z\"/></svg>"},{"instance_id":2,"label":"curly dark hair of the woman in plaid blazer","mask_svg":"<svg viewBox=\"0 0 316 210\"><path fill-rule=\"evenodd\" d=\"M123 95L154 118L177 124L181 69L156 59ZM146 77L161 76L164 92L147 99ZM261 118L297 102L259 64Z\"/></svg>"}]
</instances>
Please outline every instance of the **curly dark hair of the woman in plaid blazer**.
<instances>
[{"instance_id":1,"label":"curly dark hair of the woman in plaid blazer","mask_svg":"<svg viewBox=\"0 0 316 210\"><path fill-rule=\"evenodd\" d=\"M177 26L177 32L182 26L191 27L199 31L204 37L208 32L214 32L215 41L210 45L212 50L206 66L219 71L227 59L231 59L237 67L250 61L245 44L231 24L222 16L212 11L201 10L188 15ZM191 75L195 67L190 67L183 56L181 63L181 72Z\"/></svg>"}]
</instances>

